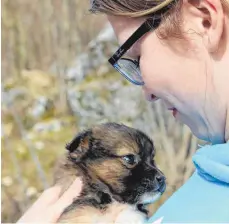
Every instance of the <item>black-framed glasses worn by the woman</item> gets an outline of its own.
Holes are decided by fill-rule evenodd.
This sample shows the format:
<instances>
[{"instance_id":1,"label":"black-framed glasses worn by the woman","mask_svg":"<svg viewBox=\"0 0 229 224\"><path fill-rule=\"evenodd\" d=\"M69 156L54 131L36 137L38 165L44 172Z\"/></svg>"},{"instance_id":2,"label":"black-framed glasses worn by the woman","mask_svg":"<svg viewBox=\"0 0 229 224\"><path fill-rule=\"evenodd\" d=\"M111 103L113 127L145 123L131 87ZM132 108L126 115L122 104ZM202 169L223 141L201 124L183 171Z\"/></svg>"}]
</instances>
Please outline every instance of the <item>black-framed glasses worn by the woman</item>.
<instances>
[{"instance_id":1,"label":"black-framed glasses worn by the woman","mask_svg":"<svg viewBox=\"0 0 229 224\"><path fill-rule=\"evenodd\" d=\"M144 85L139 67L139 58L133 60L131 58L123 57L123 55L149 31L155 30L159 27L162 15L167 12L175 1L170 2L166 7L158 10L151 15L146 21L129 37L129 39L114 53L108 60L109 63L128 81L135 85Z\"/></svg>"}]
</instances>

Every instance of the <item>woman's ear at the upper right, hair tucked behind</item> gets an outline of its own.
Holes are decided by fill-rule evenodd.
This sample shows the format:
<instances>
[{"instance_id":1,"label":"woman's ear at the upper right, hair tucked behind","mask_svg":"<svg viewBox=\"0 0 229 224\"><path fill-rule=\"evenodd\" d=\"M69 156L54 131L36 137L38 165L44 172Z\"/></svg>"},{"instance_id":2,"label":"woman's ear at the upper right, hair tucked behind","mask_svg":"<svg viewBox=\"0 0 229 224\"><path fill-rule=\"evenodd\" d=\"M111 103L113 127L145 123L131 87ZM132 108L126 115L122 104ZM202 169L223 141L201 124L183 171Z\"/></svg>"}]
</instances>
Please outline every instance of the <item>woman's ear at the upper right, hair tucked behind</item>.
<instances>
[{"instance_id":1,"label":"woman's ear at the upper right, hair tucked behind","mask_svg":"<svg viewBox=\"0 0 229 224\"><path fill-rule=\"evenodd\" d=\"M184 0L187 18L195 31L201 34L209 52L218 50L223 36L225 15L220 0Z\"/></svg>"}]
</instances>

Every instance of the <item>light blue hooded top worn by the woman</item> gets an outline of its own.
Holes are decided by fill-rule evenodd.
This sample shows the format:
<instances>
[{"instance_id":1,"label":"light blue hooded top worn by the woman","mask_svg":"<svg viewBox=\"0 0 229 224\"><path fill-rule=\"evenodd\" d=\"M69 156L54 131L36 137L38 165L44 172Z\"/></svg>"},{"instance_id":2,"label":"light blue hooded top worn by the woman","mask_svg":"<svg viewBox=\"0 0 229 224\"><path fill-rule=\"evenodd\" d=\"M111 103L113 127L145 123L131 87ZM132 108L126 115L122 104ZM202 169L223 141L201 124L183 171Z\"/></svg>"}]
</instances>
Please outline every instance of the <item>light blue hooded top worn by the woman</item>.
<instances>
[{"instance_id":1,"label":"light blue hooded top worn by the woman","mask_svg":"<svg viewBox=\"0 0 229 224\"><path fill-rule=\"evenodd\" d=\"M196 171L148 221L229 223L229 143L204 146L193 156Z\"/></svg>"}]
</instances>

